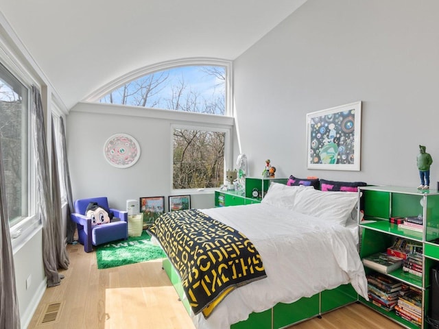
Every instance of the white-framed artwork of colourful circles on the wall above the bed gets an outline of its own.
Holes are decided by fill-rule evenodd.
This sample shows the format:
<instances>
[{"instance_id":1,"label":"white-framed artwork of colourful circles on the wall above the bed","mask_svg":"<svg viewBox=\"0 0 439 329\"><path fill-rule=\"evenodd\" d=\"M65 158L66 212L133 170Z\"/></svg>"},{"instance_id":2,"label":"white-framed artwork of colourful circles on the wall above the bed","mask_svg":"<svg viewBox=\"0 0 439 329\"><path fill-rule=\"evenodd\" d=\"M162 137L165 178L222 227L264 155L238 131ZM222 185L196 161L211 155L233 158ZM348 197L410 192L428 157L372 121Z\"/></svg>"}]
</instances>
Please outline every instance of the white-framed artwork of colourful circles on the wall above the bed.
<instances>
[{"instance_id":1,"label":"white-framed artwork of colourful circles on the wall above the bed","mask_svg":"<svg viewBox=\"0 0 439 329\"><path fill-rule=\"evenodd\" d=\"M361 101L307 114L307 168L360 170Z\"/></svg>"}]
</instances>

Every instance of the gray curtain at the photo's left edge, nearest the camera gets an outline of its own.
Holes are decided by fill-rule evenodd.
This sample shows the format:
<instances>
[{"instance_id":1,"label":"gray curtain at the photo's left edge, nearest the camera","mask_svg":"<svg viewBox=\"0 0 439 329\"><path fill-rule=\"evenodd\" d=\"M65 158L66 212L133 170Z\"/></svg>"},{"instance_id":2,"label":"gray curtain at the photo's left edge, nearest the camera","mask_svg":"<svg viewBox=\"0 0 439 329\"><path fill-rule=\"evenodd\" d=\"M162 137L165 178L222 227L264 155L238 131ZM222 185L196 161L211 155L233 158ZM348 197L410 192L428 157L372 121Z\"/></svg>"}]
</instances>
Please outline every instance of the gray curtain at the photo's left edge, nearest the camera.
<instances>
[{"instance_id":1,"label":"gray curtain at the photo's left edge, nearest the camera","mask_svg":"<svg viewBox=\"0 0 439 329\"><path fill-rule=\"evenodd\" d=\"M20 327L0 138L0 328L19 329Z\"/></svg>"}]
</instances>

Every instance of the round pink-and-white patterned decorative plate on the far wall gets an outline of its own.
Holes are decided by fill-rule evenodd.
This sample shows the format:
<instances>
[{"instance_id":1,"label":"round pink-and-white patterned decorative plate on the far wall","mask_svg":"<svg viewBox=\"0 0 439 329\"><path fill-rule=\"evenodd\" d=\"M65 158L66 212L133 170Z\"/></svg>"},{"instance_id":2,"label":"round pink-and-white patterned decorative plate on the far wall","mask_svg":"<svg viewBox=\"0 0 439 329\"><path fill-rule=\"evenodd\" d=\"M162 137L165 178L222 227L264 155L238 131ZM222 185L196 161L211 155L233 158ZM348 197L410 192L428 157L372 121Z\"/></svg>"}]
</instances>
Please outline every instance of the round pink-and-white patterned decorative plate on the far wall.
<instances>
[{"instance_id":1,"label":"round pink-and-white patterned decorative plate on the far wall","mask_svg":"<svg viewBox=\"0 0 439 329\"><path fill-rule=\"evenodd\" d=\"M114 134L105 142L104 157L114 167L131 167L140 158L139 143L128 134Z\"/></svg>"}]
</instances>

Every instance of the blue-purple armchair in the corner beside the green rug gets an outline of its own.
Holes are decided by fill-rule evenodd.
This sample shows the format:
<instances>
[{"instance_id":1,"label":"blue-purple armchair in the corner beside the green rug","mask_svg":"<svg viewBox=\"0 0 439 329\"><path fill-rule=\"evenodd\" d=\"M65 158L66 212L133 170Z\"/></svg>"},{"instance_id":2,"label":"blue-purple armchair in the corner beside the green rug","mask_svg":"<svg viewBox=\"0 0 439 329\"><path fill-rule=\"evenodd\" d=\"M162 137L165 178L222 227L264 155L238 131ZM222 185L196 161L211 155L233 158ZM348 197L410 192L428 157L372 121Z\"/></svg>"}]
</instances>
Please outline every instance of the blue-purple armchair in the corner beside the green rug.
<instances>
[{"instance_id":1,"label":"blue-purple armchair in the corner beside the green rug","mask_svg":"<svg viewBox=\"0 0 439 329\"><path fill-rule=\"evenodd\" d=\"M112 221L103 225L91 225L91 218L85 216L86 208L90 202L96 202L99 206L109 209L120 221ZM128 239L128 212L108 207L106 197L91 197L75 201L75 212L71 214L71 220L78 227L78 238L84 245L85 252L92 252L93 245L101 245L115 240Z\"/></svg>"}]
</instances>

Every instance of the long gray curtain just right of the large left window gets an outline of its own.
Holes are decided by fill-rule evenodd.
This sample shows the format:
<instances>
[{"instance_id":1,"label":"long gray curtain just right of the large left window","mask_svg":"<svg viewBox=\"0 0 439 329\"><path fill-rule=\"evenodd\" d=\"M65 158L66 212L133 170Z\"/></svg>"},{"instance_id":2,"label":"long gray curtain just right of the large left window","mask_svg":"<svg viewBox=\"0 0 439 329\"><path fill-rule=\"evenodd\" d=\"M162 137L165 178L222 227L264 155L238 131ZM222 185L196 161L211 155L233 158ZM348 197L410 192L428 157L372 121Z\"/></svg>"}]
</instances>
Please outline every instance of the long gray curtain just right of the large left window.
<instances>
[{"instance_id":1,"label":"long gray curtain just right of the large left window","mask_svg":"<svg viewBox=\"0 0 439 329\"><path fill-rule=\"evenodd\" d=\"M47 277L47 287L57 286L64 277L58 273L56 221L62 218L54 214L54 205L51 198L51 186L49 176L49 156L47 154L47 142L45 136L43 103L39 90L32 86L31 104L35 167L36 167L36 204L37 214L43 223L43 265Z\"/></svg>"}]
</instances>

